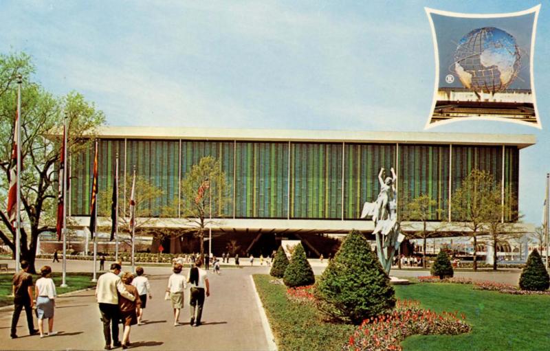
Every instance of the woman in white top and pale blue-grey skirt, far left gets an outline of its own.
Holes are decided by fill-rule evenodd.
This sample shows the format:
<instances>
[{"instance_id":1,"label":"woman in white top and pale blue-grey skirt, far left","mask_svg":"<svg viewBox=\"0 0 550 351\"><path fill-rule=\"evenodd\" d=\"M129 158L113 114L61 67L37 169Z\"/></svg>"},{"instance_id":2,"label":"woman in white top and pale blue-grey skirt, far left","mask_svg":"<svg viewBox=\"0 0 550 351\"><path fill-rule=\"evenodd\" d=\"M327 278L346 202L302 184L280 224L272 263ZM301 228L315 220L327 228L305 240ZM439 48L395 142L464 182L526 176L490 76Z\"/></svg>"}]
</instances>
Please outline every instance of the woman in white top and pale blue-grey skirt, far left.
<instances>
[{"instance_id":1,"label":"woman in white top and pale blue-grey skirt, far left","mask_svg":"<svg viewBox=\"0 0 550 351\"><path fill-rule=\"evenodd\" d=\"M36 317L38 318L40 337L44 335L44 319L47 318L47 336L56 335L54 332L54 308L56 306L55 298L56 284L51 278L52 268L44 266L40 269L42 278L36 280L34 292L36 293Z\"/></svg>"}]
</instances>

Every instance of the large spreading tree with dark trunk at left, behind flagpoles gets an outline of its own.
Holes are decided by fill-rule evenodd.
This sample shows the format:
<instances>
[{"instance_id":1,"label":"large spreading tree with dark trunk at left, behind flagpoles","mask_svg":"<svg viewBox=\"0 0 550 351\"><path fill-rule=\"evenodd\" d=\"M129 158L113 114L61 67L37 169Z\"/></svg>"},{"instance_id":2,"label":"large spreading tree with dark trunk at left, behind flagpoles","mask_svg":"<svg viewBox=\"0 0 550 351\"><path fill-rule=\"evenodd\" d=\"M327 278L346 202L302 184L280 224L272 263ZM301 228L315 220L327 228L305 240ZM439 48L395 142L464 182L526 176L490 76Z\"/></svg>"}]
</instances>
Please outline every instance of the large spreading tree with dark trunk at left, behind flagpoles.
<instances>
[{"instance_id":1,"label":"large spreading tree with dark trunk at left, behind flagpoles","mask_svg":"<svg viewBox=\"0 0 550 351\"><path fill-rule=\"evenodd\" d=\"M26 54L0 54L0 200L5 201L10 184L11 151L17 110L17 76L21 85L21 259L34 262L39 234L55 230L58 184L56 163L60 156L64 113L67 113L67 148L80 152L90 147L104 115L83 95L71 92L56 97L32 81L34 65ZM5 203L5 202L3 202ZM15 252L15 231L5 210L0 211L0 238Z\"/></svg>"}]
</instances>

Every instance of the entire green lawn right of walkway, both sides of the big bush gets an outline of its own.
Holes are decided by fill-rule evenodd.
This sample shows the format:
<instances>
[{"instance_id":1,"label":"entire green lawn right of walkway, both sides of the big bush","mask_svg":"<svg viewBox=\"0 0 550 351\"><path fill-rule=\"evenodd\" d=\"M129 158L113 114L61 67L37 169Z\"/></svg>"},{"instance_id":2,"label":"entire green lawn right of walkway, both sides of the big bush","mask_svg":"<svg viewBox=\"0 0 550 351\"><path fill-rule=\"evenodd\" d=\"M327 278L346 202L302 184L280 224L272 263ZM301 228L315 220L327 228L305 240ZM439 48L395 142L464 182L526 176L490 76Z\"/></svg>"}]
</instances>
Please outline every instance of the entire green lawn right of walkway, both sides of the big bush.
<instances>
[{"instance_id":1,"label":"entire green lawn right of walkway, both sides of the big bush","mask_svg":"<svg viewBox=\"0 0 550 351\"><path fill-rule=\"evenodd\" d=\"M316 308L288 302L286 288L269 275L254 275L279 350L338 350L354 327L323 321ZM469 284L423 283L395 286L397 298L415 299L423 308L466 315L472 332L415 335L404 350L550 350L550 296L477 291Z\"/></svg>"}]
</instances>

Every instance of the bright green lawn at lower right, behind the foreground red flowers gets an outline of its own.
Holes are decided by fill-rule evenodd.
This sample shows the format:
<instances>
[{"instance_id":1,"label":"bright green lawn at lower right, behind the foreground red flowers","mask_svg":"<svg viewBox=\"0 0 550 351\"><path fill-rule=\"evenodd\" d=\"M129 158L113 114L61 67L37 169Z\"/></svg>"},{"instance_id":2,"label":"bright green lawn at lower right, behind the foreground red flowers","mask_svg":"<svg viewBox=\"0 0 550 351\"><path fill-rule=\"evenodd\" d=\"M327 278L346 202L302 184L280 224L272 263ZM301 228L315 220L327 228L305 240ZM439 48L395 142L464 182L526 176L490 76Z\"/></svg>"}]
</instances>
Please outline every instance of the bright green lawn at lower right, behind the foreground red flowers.
<instances>
[{"instance_id":1,"label":"bright green lawn at lower right, behind the foreground red flowers","mask_svg":"<svg viewBox=\"0 0 550 351\"><path fill-rule=\"evenodd\" d=\"M549 350L550 296L507 295L473 290L461 284L396 286L400 299L416 299L424 308L459 310L472 332L457 336L413 336L405 350Z\"/></svg>"}]
</instances>

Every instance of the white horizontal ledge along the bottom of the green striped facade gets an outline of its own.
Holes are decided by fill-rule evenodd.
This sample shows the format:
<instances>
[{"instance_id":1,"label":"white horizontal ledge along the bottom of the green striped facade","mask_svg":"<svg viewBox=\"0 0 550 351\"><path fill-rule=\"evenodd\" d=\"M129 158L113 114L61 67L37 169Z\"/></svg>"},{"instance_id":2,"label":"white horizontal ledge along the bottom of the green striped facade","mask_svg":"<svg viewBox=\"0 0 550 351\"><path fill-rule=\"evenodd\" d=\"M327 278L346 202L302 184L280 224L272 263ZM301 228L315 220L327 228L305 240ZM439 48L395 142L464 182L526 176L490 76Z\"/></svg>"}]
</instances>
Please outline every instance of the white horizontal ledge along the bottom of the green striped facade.
<instances>
[{"instance_id":1,"label":"white horizontal ledge along the bottom of the green striped facade","mask_svg":"<svg viewBox=\"0 0 550 351\"><path fill-rule=\"evenodd\" d=\"M146 220L144 229L192 229L190 222L184 218L137 218L137 223ZM89 226L89 217L71 217L71 227ZM111 227L111 218L98 217L99 227ZM207 227L208 229L208 227ZM372 220L322 220L322 219L259 219L259 218L212 218L212 231L217 232L250 232L250 233L285 233L296 234L348 234L351 230L370 234L374 230ZM421 231L421 222L402 222L401 230L406 233ZM428 222L428 231L438 231L443 236L465 236L470 232L463 223ZM516 234L533 233L535 226L531 223L515 223ZM481 235L481 234L480 234Z\"/></svg>"}]
</instances>

